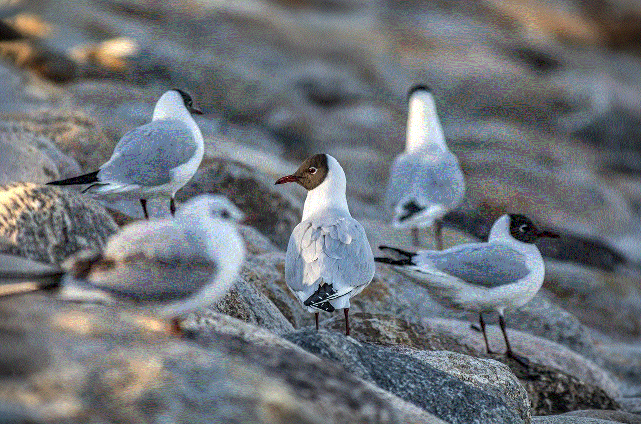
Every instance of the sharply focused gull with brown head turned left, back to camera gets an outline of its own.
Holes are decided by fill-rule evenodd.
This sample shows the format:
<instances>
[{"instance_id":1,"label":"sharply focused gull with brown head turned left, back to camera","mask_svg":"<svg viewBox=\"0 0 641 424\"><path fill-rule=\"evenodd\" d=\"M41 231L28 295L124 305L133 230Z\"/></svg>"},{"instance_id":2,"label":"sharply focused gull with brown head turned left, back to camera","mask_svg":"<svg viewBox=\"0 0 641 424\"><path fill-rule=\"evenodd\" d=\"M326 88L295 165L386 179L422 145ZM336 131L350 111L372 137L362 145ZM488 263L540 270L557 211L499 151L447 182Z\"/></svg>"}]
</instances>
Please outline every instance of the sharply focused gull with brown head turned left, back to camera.
<instances>
[{"instance_id":1,"label":"sharply focused gull with brown head turned left, back to camera","mask_svg":"<svg viewBox=\"0 0 641 424\"><path fill-rule=\"evenodd\" d=\"M289 238L285 281L303 309L343 309L345 335L349 336L349 299L374 277L374 254L365 230L349 213L345 172L329 154L305 159L292 175L276 184L296 182L307 190L303 218Z\"/></svg>"}]
</instances>

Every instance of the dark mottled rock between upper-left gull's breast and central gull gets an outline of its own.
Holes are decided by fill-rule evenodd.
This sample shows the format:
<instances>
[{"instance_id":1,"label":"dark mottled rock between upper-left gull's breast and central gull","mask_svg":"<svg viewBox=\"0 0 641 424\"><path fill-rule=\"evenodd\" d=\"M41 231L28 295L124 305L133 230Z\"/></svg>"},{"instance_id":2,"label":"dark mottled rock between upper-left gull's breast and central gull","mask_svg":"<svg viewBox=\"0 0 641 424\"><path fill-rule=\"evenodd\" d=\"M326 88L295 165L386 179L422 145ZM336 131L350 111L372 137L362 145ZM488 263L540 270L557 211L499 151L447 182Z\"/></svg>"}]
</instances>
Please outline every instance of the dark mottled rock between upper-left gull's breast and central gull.
<instances>
[{"instance_id":1,"label":"dark mottled rock between upper-left gull's breast and central gull","mask_svg":"<svg viewBox=\"0 0 641 424\"><path fill-rule=\"evenodd\" d=\"M176 199L184 201L199 193L225 195L241 210L257 216L253 227L285 250L290 233L301 222L301 209L296 200L274 188L274 181L242 163L212 159L201 165Z\"/></svg>"}]
</instances>

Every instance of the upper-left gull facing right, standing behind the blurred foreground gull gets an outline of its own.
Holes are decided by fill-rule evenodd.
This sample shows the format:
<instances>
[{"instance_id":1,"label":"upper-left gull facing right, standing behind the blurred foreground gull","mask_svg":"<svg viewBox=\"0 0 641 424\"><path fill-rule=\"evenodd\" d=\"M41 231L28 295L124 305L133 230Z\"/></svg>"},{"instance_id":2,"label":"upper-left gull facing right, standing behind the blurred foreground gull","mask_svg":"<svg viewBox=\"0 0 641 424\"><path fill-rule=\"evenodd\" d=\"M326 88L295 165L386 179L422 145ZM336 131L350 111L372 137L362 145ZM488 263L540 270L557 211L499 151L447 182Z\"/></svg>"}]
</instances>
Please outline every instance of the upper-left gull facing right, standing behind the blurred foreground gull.
<instances>
[{"instance_id":1,"label":"upper-left gull facing right, standing behind the blurred foreground gull","mask_svg":"<svg viewBox=\"0 0 641 424\"><path fill-rule=\"evenodd\" d=\"M191 113L203 112L183 90L169 90L156 102L151 122L122 136L112 157L96 172L47 184L91 184L84 192L93 197L118 194L139 199L146 219L147 199L169 196L174 215L174 195L203 160L203 135Z\"/></svg>"}]
</instances>

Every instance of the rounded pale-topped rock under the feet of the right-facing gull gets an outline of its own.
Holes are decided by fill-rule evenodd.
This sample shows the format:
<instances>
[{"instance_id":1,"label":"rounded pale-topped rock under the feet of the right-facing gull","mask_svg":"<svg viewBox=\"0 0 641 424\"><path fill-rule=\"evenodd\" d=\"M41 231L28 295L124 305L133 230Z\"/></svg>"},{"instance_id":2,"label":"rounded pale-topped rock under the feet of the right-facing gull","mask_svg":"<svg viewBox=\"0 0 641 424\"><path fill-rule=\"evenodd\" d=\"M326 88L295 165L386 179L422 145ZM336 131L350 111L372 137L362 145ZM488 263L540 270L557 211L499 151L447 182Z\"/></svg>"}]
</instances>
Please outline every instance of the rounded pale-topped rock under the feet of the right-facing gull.
<instances>
[{"instance_id":1,"label":"rounded pale-topped rock under the feet of the right-facing gull","mask_svg":"<svg viewBox=\"0 0 641 424\"><path fill-rule=\"evenodd\" d=\"M426 329L458 339L459 343L485 354L480 332L474 334L467 322L425 318ZM494 350L504 350L501 331L488 326L488 341ZM555 414L576 409L617 409L619 387L612 377L589 359L551 341L508 329L512 349L530 361L524 368L504 355L490 355L510 366L528 391L533 415Z\"/></svg>"}]
</instances>

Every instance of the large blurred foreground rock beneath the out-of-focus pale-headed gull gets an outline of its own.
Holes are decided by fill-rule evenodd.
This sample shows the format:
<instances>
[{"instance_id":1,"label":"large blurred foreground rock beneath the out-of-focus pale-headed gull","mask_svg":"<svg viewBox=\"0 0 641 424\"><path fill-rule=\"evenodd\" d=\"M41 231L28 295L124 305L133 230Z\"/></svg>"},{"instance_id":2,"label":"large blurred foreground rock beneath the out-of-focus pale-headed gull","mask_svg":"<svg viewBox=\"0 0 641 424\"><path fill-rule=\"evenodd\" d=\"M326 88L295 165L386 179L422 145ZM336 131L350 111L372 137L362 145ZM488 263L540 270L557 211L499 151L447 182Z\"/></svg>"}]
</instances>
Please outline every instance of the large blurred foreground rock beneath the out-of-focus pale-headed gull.
<instances>
[{"instance_id":1,"label":"large blurred foreground rock beneath the out-of-focus pale-headed gull","mask_svg":"<svg viewBox=\"0 0 641 424\"><path fill-rule=\"evenodd\" d=\"M136 311L38 294L1 300L0 314L3 342L15 335L29 343L18 343L19 350L51 358L26 368L22 379L4 379L3 405L47 421L159 422L171 414L193 423L444 424L335 364L221 315L217 328L225 334L176 340L142 325L153 318Z\"/></svg>"}]
</instances>

